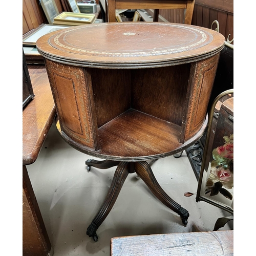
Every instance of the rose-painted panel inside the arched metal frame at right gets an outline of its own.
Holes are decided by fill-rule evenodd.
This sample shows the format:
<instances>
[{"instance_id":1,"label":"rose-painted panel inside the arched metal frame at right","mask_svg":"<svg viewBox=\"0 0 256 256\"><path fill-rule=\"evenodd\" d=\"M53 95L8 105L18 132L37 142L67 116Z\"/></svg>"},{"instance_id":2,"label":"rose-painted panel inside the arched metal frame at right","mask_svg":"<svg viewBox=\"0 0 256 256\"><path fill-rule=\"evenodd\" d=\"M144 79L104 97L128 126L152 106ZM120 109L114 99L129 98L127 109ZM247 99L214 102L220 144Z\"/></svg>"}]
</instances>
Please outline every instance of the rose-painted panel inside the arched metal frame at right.
<instances>
[{"instance_id":1,"label":"rose-painted panel inside the arched metal frame at right","mask_svg":"<svg viewBox=\"0 0 256 256\"><path fill-rule=\"evenodd\" d=\"M232 104L227 102L231 102L231 98L223 102L225 105L222 104L217 119L212 120L209 129L200 198L233 212L233 110Z\"/></svg>"}]
</instances>

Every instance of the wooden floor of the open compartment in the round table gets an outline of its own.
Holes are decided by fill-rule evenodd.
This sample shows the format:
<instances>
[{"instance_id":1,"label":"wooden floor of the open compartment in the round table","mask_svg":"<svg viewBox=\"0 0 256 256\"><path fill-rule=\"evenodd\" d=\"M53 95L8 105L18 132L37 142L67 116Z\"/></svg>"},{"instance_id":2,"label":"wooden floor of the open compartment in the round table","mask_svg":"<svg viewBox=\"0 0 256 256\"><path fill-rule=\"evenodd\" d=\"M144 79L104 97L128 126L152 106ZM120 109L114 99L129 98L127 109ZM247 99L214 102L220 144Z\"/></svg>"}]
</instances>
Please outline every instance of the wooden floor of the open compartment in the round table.
<instances>
[{"instance_id":1,"label":"wooden floor of the open compartment in the round table","mask_svg":"<svg viewBox=\"0 0 256 256\"><path fill-rule=\"evenodd\" d=\"M98 129L100 153L135 158L164 154L181 146L181 127L129 109Z\"/></svg>"}]
</instances>

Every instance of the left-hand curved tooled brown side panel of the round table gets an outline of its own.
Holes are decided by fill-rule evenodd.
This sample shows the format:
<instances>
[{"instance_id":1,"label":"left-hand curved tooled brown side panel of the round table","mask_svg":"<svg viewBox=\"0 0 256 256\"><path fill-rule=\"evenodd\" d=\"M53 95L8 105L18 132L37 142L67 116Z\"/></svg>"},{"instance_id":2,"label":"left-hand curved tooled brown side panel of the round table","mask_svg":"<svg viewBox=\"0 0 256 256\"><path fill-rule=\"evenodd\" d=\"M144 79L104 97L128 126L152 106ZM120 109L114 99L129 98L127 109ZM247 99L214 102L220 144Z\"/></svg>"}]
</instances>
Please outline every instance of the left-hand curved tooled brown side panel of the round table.
<instances>
[{"instance_id":1,"label":"left-hand curved tooled brown side panel of the round table","mask_svg":"<svg viewBox=\"0 0 256 256\"><path fill-rule=\"evenodd\" d=\"M61 132L82 145L98 150L97 126L92 118L91 77L83 68L46 60L46 69Z\"/></svg>"}]
</instances>

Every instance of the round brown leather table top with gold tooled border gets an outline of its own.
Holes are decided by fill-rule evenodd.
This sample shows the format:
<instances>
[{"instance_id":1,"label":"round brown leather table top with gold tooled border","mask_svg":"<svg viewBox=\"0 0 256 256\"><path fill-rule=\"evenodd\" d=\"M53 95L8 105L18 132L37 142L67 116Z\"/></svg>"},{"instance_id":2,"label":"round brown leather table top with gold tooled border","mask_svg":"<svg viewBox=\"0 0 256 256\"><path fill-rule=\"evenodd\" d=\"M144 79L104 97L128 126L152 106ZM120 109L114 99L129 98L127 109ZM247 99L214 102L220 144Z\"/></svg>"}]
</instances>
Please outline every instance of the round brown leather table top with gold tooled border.
<instances>
[{"instance_id":1,"label":"round brown leather table top with gold tooled border","mask_svg":"<svg viewBox=\"0 0 256 256\"><path fill-rule=\"evenodd\" d=\"M99 68L177 65L212 56L225 38L215 30L174 23L101 23L40 37L38 52L51 60Z\"/></svg>"}]
</instances>

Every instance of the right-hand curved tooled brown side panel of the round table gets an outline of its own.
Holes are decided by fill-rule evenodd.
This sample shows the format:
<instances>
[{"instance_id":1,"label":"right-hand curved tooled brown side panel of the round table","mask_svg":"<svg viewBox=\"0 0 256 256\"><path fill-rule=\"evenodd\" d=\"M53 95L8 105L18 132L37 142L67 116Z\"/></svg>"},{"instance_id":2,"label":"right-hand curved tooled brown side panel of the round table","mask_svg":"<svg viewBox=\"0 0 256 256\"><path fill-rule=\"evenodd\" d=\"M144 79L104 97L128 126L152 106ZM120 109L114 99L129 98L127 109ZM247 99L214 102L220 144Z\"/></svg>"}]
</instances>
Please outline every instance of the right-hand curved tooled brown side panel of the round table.
<instances>
[{"instance_id":1,"label":"right-hand curved tooled brown side panel of the round table","mask_svg":"<svg viewBox=\"0 0 256 256\"><path fill-rule=\"evenodd\" d=\"M214 84L220 54L191 64L187 92L187 116L183 120L181 142L185 142L201 129ZM183 139L184 138L184 139Z\"/></svg>"}]
</instances>

